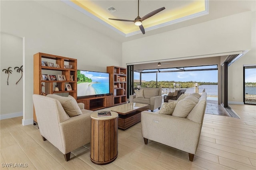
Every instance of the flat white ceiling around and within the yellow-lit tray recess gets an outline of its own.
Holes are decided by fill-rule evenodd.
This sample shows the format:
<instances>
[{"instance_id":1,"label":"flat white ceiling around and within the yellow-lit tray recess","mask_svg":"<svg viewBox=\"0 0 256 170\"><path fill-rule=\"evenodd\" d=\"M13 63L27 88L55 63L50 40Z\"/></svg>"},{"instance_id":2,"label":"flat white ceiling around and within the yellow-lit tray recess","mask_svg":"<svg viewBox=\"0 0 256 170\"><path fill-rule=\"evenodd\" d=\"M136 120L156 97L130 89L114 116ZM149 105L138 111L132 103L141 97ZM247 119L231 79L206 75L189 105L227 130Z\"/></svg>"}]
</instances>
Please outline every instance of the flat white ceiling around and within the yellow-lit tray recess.
<instances>
[{"instance_id":1,"label":"flat white ceiling around and within the yellow-lit tray recess","mask_svg":"<svg viewBox=\"0 0 256 170\"><path fill-rule=\"evenodd\" d=\"M146 34L136 34L129 37L124 37L120 33L113 30L110 26L102 24L95 16L90 16L72 8L64 0L53 0L53 1L36 1L47 8L50 8L56 11L59 14L62 14L72 20L75 20L89 28L92 28L95 31L98 31L100 34L104 34L117 40L119 42L126 42L130 40L135 40L138 38L143 38L146 36L152 36L155 34L160 34L163 32L168 32L170 30L175 30L178 28L198 24L201 22L206 22L208 20L214 20L217 18L222 18L225 16L230 16L233 14L238 14L246 11L255 11L256 1L255 0L209 0L209 14L200 16L198 18L193 18L176 24L164 26L155 30L146 30ZM140 17L148 14L149 12L165 6L166 8L175 8L177 6L182 6L189 1L183 0L141 0L140 2ZM137 16L137 3L136 0L97 0L96 4L99 6L114 6L118 11L122 11L116 14L113 14L113 18L134 20ZM174 5L175 4L175 5ZM119 10L120 9L120 10ZM166 11L168 11L166 9ZM164 12L164 11L162 11ZM157 15L157 14L156 14ZM149 20L149 19L148 19ZM116 21L119 22L119 21ZM128 24L128 23L126 23ZM131 22L131 24L133 24ZM144 23L143 23L144 24Z\"/></svg>"}]
</instances>

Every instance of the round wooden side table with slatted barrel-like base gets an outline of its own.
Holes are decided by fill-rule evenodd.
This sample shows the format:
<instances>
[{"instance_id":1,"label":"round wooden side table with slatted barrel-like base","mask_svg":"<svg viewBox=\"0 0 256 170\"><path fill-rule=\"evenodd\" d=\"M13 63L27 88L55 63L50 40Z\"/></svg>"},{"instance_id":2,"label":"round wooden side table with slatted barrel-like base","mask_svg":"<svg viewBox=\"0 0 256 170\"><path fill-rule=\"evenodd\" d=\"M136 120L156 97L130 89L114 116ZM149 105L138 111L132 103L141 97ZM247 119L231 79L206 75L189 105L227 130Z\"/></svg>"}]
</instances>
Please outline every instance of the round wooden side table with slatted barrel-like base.
<instances>
[{"instance_id":1,"label":"round wooden side table with slatted barrel-like base","mask_svg":"<svg viewBox=\"0 0 256 170\"><path fill-rule=\"evenodd\" d=\"M118 155L118 113L98 117L98 111L91 115L91 161L105 165L113 162Z\"/></svg>"}]
</instances>

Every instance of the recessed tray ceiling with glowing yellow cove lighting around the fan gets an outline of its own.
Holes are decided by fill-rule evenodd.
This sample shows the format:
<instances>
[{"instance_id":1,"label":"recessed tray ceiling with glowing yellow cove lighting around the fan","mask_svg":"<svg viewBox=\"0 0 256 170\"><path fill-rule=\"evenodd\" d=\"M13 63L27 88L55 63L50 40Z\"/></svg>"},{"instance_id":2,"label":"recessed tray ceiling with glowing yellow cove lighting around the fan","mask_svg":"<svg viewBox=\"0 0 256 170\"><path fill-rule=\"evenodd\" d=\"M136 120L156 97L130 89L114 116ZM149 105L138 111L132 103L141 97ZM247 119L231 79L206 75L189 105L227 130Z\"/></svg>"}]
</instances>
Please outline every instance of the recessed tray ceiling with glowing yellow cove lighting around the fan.
<instances>
[{"instance_id":1,"label":"recessed tray ceiling with glowing yellow cove lighting around the fan","mask_svg":"<svg viewBox=\"0 0 256 170\"><path fill-rule=\"evenodd\" d=\"M156 9L165 7L161 12L143 21L142 24L147 32L208 14L206 0L140 0L139 15L138 0L62 0L62 2L95 18L124 37L141 34L139 27L132 22L120 22L108 18L134 20L137 16L142 18ZM109 7L114 7L116 12L107 10Z\"/></svg>"}]
</instances>

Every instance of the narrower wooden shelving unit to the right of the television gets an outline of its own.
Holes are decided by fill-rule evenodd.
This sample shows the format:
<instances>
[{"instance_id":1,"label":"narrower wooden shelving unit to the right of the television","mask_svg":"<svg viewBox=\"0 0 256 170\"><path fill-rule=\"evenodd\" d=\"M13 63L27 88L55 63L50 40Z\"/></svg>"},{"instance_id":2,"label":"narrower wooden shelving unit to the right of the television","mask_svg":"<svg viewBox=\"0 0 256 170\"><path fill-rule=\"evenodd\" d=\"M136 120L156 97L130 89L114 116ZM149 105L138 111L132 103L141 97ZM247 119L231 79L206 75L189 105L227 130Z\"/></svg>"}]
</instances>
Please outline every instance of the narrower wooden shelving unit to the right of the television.
<instances>
[{"instance_id":1,"label":"narrower wooden shelving unit to the right of the television","mask_svg":"<svg viewBox=\"0 0 256 170\"><path fill-rule=\"evenodd\" d=\"M126 103L126 68L108 66L107 72L110 73L110 93L114 95L114 105Z\"/></svg>"}]
</instances>

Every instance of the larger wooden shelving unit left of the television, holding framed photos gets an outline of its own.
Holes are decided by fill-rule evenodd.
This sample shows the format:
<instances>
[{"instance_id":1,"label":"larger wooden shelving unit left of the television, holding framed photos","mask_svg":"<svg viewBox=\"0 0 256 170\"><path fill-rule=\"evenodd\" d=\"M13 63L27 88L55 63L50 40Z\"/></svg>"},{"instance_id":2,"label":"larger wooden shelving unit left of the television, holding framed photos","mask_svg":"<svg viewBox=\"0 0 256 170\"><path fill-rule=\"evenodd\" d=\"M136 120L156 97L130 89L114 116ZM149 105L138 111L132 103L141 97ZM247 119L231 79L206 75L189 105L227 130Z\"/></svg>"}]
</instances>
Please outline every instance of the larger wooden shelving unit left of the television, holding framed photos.
<instances>
[{"instance_id":1,"label":"larger wooden shelving unit left of the television, holding framed photos","mask_svg":"<svg viewBox=\"0 0 256 170\"><path fill-rule=\"evenodd\" d=\"M54 67L42 66L42 61L48 61L54 63ZM57 68L56 64L60 67ZM64 68L64 65L72 65L72 69ZM42 74L48 75L65 75L65 81L59 80L42 80ZM77 60L68 57L61 57L58 55L46 54L46 53L36 53L34 54L34 94L41 95L42 89L44 93L54 94L54 93L68 93L68 95L73 96L75 99L77 97L76 87L77 87ZM73 80L71 80L71 75ZM42 87L44 85L44 88ZM66 84L70 84L72 91L66 90ZM54 86L58 85L59 91L54 91ZM37 123L36 115L34 111L34 123Z\"/></svg>"}]
</instances>

